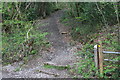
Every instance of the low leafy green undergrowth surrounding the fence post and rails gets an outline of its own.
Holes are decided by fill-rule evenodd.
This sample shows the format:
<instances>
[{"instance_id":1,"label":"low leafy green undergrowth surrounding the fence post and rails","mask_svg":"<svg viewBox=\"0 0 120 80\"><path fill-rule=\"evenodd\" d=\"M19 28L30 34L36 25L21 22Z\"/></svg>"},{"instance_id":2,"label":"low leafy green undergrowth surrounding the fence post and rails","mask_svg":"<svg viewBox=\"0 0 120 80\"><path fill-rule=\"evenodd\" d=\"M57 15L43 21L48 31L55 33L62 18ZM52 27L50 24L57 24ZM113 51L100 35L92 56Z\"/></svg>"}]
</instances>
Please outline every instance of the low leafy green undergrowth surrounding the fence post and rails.
<instances>
[{"instance_id":1,"label":"low leafy green undergrowth surrounding the fence post and rails","mask_svg":"<svg viewBox=\"0 0 120 80\"><path fill-rule=\"evenodd\" d=\"M100 38L93 38L94 40L101 40L103 45L104 51L118 51L120 46L118 45L116 34L112 33L104 33L99 35ZM94 37L94 36L93 36ZM97 41L94 41L94 43L90 43L91 41L88 41L86 44L83 45L83 48L81 51L79 51L77 54L79 54L82 58L80 62L77 64L79 66L77 68L78 74L82 75L84 78L88 77L101 77L100 74L98 74L97 69L95 68L94 63L94 52L93 48L95 44L98 44ZM115 54L104 54L104 59L112 59L112 60L120 60L120 56ZM104 78L119 78L120 77L120 70L119 70L119 62L106 62L104 61Z\"/></svg>"}]
</instances>

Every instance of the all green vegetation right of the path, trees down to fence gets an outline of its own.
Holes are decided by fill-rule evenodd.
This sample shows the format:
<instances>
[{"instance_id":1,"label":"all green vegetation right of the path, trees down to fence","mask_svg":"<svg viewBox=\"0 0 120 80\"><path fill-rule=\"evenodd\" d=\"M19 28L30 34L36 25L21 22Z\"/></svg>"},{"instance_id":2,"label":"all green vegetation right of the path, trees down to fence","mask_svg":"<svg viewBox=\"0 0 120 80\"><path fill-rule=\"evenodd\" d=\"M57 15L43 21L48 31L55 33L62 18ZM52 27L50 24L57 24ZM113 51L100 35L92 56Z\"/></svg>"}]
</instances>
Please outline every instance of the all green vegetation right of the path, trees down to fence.
<instances>
[{"instance_id":1,"label":"all green vegetation right of the path, trees down to fence","mask_svg":"<svg viewBox=\"0 0 120 80\"><path fill-rule=\"evenodd\" d=\"M120 51L119 45L119 8L120 3L99 2L99 3L68 3L66 15L61 22L67 26L72 26L71 35L75 41L81 42L82 50L77 52L81 57L75 65L73 73L82 75L84 78L100 77L94 65L93 47L102 41L103 50ZM105 55L108 59L119 60L118 55ZM119 64L105 62L104 77L118 78L120 70ZM76 66L78 66L76 68ZM108 68L109 66L114 68ZM117 66L117 68L115 67ZM108 76L107 74L112 74ZM116 76L115 76L116 75ZM75 75L75 77L77 77Z\"/></svg>"}]
</instances>

